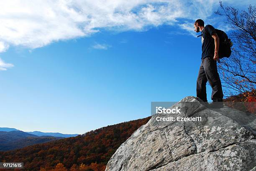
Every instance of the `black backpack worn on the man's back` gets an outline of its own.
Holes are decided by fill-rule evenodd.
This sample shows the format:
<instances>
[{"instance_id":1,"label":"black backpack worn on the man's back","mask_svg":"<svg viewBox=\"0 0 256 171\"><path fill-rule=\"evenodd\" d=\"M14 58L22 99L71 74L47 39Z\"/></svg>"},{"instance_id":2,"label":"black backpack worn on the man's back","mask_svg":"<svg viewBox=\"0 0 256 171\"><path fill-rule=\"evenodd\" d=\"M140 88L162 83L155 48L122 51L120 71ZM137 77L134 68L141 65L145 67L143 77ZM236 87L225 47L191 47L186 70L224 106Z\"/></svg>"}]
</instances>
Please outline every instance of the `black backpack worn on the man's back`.
<instances>
[{"instance_id":1,"label":"black backpack worn on the man's back","mask_svg":"<svg viewBox=\"0 0 256 171\"><path fill-rule=\"evenodd\" d=\"M218 30L218 29L214 29L219 37L219 59L224 58L224 57L230 57L231 55L231 47L233 45L232 41L228 38L228 35L222 31L222 30ZM208 36L210 36L209 33L207 33ZM199 35L197 37L200 37L202 35ZM214 41L214 39L212 38L212 36L210 36L210 38L212 39L212 41ZM214 43L213 43L214 45ZM214 49L214 48L213 48Z\"/></svg>"}]
</instances>

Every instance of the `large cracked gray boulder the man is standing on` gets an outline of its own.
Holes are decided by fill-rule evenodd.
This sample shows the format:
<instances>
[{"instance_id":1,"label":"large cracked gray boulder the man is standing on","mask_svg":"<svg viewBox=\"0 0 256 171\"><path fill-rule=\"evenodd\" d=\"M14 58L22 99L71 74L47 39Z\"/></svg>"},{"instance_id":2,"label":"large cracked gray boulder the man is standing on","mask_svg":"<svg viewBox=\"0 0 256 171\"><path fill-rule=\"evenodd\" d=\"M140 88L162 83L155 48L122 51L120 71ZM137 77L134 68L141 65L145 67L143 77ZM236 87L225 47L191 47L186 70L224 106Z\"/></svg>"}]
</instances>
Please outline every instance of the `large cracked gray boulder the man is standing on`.
<instances>
[{"instance_id":1,"label":"large cracked gray boulder the man is standing on","mask_svg":"<svg viewBox=\"0 0 256 171\"><path fill-rule=\"evenodd\" d=\"M105 171L249 171L256 166L256 116L233 108L205 108L188 96L171 108L175 117L201 121L156 121L156 114L113 154ZM174 116L174 114L172 114Z\"/></svg>"}]
</instances>

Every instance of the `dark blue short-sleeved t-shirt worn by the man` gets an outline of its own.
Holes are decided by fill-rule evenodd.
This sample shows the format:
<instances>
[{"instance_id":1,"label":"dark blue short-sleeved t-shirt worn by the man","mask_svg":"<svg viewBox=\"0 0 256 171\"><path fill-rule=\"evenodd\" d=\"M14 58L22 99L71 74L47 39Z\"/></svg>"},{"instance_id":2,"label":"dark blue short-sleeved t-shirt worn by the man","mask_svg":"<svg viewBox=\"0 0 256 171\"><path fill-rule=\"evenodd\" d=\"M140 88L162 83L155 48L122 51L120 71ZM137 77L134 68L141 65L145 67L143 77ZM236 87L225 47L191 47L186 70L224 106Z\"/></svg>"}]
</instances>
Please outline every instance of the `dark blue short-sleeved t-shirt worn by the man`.
<instances>
[{"instance_id":1,"label":"dark blue short-sleeved t-shirt worn by the man","mask_svg":"<svg viewBox=\"0 0 256 171\"><path fill-rule=\"evenodd\" d=\"M202 58L208 56L214 56L215 44L214 39L212 38L213 33L216 33L215 28L212 25L205 25L205 28L202 30Z\"/></svg>"}]
</instances>

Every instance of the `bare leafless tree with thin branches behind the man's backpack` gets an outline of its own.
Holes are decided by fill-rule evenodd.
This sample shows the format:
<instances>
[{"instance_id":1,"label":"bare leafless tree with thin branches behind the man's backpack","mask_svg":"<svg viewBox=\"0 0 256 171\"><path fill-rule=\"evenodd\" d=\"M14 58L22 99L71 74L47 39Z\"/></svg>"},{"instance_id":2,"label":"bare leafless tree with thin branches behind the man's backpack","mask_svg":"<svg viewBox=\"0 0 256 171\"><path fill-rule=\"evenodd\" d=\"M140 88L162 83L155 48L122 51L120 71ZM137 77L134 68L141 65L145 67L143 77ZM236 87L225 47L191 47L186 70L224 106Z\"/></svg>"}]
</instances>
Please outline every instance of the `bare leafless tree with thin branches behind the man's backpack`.
<instances>
[{"instance_id":1,"label":"bare leafless tree with thin branches behind the man's backpack","mask_svg":"<svg viewBox=\"0 0 256 171\"><path fill-rule=\"evenodd\" d=\"M253 91L256 88L256 6L249 5L248 10L239 13L236 8L224 8L220 1L220 10L215 14L225 16L224 23L233 30L228 35L233 42L232 54L218 65L224 91L230 96Z\"/></svg>"}]
</instances>

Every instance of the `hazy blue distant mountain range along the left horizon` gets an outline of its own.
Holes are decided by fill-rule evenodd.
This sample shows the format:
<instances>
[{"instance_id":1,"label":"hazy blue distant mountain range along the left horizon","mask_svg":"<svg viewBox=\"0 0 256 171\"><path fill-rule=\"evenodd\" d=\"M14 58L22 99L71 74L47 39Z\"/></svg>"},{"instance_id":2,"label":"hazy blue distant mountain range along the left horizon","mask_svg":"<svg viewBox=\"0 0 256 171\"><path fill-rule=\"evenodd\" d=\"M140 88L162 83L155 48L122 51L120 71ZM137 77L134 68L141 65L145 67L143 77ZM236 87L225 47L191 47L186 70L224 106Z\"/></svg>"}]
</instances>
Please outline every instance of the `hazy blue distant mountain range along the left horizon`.
<instances>
[{"instance_id":1,"label":"hazy blue distant mountain range along the left horizon","mask_svg":"<svg viewBox=\"0 0 256 171\"><path fill-rule=\"evenodd\" d=\"M10 131L20 131L20 130L15 128L0 128L0 131L10 132ZM30 133L36 136L55 136L55 137L64 137L64 138L69 138L69 137L74 137L79 135L79 134L63 134L63 133L45 133L40 131L33 131L33 132L26 132L26 133Z\"/></svg>"}]
</instances>

